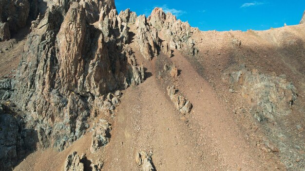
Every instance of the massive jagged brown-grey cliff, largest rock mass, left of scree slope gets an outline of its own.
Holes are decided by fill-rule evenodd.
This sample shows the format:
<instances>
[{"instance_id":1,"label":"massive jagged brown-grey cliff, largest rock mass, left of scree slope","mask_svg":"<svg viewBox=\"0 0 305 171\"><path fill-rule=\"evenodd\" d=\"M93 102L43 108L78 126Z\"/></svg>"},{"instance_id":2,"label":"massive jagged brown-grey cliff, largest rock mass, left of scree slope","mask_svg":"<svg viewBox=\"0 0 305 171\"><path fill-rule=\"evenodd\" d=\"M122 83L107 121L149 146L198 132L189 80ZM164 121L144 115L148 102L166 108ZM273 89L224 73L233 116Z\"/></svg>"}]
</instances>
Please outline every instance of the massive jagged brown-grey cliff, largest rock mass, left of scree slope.
<instances>
[{"instance_id":1,"label":"massive jagged brown-grey cliff, largest rock mass, left of scree slope","mask_svg":"<svg viewBox=\"0 0 305 171\"><path fill-rule=\"evenodd\" d=\"M128 28L119 29L113 0L62 3L66 5L50 6L34 23L11 95L37 130L38 148L60 151L85 134L88 117L105 112L95 110L98 100L112 112L118 99L106 98L107 105L103 96L144 81L143 66L124 45ZM96 28L101 18L109 25Z\"/></svg>"}]
</instances>

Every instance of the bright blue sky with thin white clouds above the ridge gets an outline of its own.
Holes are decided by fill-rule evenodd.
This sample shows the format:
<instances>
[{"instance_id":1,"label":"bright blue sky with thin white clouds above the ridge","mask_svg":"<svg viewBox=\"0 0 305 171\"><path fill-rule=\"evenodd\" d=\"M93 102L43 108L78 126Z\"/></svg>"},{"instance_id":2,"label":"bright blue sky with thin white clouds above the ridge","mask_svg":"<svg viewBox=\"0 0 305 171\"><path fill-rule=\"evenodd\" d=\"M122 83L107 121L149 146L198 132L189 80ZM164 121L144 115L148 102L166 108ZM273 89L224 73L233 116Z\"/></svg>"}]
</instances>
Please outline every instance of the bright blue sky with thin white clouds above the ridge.
<instances>
[{"instance_id":1,"label":"bright blue sky with thin white clouds above the ridge","mask_svg":"<svg viewBox=\"0 0 305 171\"><path fill-rule=\"evenodd\" d=\"M172 12L202 31L267 30L298 24L305 0L115 0L119 11L130 8L150 15L154 7Z\"/></svg>"}]
</instances>

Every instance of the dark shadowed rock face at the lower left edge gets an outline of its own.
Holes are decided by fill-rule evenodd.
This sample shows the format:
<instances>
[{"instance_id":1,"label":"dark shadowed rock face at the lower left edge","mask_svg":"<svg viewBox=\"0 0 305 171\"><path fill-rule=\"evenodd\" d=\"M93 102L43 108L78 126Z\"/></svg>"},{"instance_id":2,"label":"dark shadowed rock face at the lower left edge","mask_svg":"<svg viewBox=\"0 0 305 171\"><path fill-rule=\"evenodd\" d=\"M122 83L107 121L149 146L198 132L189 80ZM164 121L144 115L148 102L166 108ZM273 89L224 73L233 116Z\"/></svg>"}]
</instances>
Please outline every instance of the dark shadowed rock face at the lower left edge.
<instances>
[{"instance_id":1,"label":"dark shadowed rock face at the lower left edge","mask_svg":"<svg viewBox=\"0 0 305 171\"><path fill-rule=\"evenodd\" d=\"M10 171L36 150L37 131L24 127L24 120L9 106L0 104L0 171Z\"/></svg>"}]
</instances>

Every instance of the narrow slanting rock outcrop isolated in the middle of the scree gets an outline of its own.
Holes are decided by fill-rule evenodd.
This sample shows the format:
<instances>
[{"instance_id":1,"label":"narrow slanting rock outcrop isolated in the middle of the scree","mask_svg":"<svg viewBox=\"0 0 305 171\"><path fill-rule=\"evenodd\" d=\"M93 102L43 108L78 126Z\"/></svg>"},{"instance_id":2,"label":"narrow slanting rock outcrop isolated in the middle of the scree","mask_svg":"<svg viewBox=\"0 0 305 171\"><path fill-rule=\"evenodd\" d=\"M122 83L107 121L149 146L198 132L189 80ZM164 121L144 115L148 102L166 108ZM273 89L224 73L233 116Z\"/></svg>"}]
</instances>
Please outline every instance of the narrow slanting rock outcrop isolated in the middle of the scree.
<instances>
[{"instance_id":1,"label":"narrow slanting rock outcrop isolated in the middle of the scree","mask_svg":"<svg viewBox=\"0 0 305 171\"><path fill-rule=\"evenodd\" d=\"M189 114L191 112L192 104L183 96L177 94L177 89L174 85L167 87L167 93L174 103L175 107L181 114Z\"/></svg>"}]
</instances>

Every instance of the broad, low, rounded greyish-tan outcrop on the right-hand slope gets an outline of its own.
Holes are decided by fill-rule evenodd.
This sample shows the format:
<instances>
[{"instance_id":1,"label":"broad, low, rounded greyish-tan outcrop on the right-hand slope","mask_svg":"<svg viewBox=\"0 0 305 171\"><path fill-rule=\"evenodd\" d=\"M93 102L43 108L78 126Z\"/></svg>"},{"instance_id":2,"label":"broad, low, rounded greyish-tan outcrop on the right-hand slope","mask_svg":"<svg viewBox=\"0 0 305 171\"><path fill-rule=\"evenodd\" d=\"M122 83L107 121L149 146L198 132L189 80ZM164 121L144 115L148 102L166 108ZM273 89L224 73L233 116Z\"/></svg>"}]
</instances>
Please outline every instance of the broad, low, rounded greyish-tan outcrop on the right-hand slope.
<instances>
[{"instance_id":1,"label":"broad, low, rounded greyish-tan outcrop on the right-hand slope","mask_svg":"<svg viewBox=\"0 0 305 171\"><path fill-rule=\"evenodd\" d=\"M241 95L252 105L251 113L259 121L288 115L297 100L296 88L286 81L285 75L266 75L255 69L242 69L225 74L223 80L236 87L234 89L241 86Z\"/></svg>"}]
</instances>

